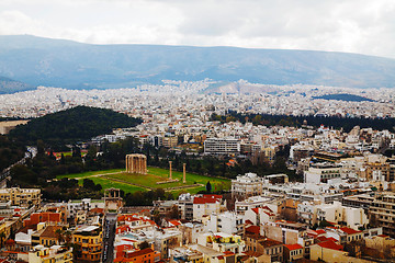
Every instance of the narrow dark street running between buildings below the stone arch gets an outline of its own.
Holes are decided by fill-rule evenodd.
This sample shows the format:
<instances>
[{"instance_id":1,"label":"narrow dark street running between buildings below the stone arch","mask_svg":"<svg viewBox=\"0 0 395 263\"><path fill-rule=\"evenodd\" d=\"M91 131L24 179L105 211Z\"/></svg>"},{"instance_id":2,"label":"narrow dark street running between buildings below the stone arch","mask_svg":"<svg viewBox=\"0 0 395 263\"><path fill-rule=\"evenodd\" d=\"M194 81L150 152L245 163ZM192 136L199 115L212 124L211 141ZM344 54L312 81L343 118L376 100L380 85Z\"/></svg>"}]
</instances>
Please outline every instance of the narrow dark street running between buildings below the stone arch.
<instances>
[{"instance_id":1,"label":"narrow dark street running between buildings below the stone arch","mask_svg":"<svg viewBox=\"0 0 395 263\"><path fill-rule=\"evenodd\" d=\"M116 213L108 213L103 226L103 253L102 262L114 261L114 240L115 240Z\"/></svg>"}]
</instances>

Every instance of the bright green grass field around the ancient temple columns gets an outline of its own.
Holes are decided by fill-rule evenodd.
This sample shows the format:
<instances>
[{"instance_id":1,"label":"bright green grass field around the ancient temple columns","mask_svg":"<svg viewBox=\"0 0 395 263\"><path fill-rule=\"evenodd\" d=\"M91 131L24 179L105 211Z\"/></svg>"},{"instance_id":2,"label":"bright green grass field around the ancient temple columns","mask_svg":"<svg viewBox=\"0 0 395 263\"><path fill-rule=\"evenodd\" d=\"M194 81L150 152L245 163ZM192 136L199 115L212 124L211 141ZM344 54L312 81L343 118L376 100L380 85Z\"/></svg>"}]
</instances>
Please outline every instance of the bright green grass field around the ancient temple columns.
<instances>
[{"instance_id":1,"label":"bright green grass field around the ancient temple columns","mask_svg":"<svg viewBox=\"0 0 395 263\"><path fill-rule=\"evenodd\" d=\"M133 193L136 191L147 191L149 188L165 188L171 191L174 195L180 193L195 194L199 191L205 190L205 186L194 186L188 188L176 188L183 185L203 184L205 185L208 181L212 185L212 190L228 190L230 188L230 180L210 178L199 175L194 173L187 173L187 183L182 183L182 172L172 172L172 179L178 179L178 182L169 182L163 184L157 184L157 182L166 181L169 178L169 170L148 167L148 174L131 174L124 172L124 169L112 169L94 172L83 172L75 174L58 175L57 179L69 178L77 179L79 184L82 184L83 179L89 178L93 180L95 184L101 184L103 188L116 187L125 191L125 193ZM122 182L120 182L122 181ZM134 185L133 185L134 184Z\"/></svg>"}]
</instances>

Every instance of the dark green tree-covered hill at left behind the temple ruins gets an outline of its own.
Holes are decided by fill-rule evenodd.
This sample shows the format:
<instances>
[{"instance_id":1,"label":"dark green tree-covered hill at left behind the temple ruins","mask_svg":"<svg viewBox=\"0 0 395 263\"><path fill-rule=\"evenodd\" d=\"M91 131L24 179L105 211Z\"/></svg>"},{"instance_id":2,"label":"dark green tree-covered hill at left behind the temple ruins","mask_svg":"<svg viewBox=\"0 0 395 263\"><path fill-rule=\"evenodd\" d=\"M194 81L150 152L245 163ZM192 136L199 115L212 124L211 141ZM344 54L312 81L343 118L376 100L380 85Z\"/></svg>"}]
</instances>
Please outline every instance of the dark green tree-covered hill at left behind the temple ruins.
<instances>
[{"instance_id":1,"label":"dark green tree-covered hill at left behind the temple ruins","mask_svg":"<svg viewBox=\"0 0 395 263\"><path fill-rule=\"evenodd\" d=\"M10 132L22 141L72 142L111 133L113 128L134 127L140 119L106 108L77 106L34 118Z\"/></svg>"}]
</instances>

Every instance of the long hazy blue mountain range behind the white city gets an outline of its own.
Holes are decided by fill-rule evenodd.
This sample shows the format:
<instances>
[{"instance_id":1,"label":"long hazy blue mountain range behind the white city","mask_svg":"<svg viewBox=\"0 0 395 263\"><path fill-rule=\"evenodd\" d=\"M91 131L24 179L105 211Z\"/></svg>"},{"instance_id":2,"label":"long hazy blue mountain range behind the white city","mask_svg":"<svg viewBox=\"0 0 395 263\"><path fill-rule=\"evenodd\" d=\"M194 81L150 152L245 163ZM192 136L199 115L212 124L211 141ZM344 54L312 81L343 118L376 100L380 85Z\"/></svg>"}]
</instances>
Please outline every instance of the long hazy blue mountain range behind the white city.
<instances>
[{"instance_id":1,"label":"long hazy blue mountain range behind the white city","mask_svg":"<svg viewBox=\"0 0 395 263\"><path fill-rule=\"evenodd\" d=\"M393 88L395 59L311 50L90 45L20 35L0 36L0 76L32 85L74 89L205 78L264 84Z\"/></svg>"}]
</instances>

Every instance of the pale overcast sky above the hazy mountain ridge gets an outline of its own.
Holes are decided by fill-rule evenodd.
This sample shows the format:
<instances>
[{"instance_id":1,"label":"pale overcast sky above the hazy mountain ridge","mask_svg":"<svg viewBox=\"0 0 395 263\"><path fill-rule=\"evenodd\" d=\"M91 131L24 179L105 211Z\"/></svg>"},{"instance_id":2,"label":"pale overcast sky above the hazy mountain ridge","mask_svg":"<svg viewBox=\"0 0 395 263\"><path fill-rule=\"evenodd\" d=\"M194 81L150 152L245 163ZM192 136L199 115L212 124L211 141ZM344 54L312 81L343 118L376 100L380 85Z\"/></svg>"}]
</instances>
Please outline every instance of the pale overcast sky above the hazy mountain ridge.
<instances>
[{"instance_id":1,"label":"pale overcast sky above the hazy mountain ridge","mask_svg":"<svg viewBox=\"0 0 395 263\"><path fill-rule=\"evenodd\" d=\"M395 58L395 0L0 0L0 35Z\"/></svg>"}]
</instances>

